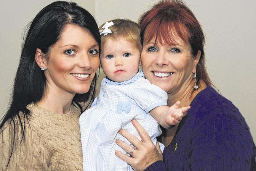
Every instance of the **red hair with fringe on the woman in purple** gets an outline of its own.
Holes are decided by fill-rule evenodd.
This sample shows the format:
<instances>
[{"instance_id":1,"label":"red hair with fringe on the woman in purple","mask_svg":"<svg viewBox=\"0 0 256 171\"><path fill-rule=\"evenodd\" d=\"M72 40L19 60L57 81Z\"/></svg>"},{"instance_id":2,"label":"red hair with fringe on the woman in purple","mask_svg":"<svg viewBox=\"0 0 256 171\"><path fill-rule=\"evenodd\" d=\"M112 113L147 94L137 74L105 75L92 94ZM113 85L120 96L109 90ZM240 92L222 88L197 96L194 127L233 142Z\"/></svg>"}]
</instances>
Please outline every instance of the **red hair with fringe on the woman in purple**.
<instances>
[{"instance_id":1,"label":"red hair with fringe on the woman in purple","mask_svg":"<svg viewBox=\"0 0 256 171\"><path fill-rule=\"evenodd\" d=\"M155 43L178 44L177 39L182 39L191 46L191 54L196 57L201 51L201 57L196 67L196 80L203 80L212 86L207 74L204 59L204 33L200 23L193 12L179 0L162 0L139 18L140 38L142 45L153 38ZM192 73L191 73L192 74Z\"/></svg>"}]
</instances>

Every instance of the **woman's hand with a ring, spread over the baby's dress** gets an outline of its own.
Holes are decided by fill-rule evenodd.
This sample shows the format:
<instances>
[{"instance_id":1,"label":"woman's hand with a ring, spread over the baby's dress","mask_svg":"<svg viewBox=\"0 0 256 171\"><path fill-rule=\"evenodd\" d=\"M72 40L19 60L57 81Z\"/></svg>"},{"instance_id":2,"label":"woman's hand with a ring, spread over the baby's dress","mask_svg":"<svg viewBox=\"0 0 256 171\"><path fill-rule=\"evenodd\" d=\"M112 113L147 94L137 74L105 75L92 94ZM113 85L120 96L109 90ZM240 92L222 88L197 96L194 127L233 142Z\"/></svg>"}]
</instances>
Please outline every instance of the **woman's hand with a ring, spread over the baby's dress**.
<instances>
[{"instance_id":1,"label":"woman's hand with a ring, spread over the baby's dress","mask_svg":"<svg viewBox=\"0 0 256 171\"><path fill-rule=\"evenodd\" d=\"M130 134L126 130L120 129L119 133L128 141L130 141L132 145L136 147L136 149L132 152L132 157L116 150L115 152L117 157L130 164L135 171L144 170L152 163L163 160L163 154L160 150L159 143L157 142L156 146L153 144L148 133L137 120L133 119L132 125L139 133L142 141L140 141L135 135ZM124 149L128 154L130 154L133 149L132 146L118 139L116 140L116 144Z\"/></svg>"}]
</instances>

